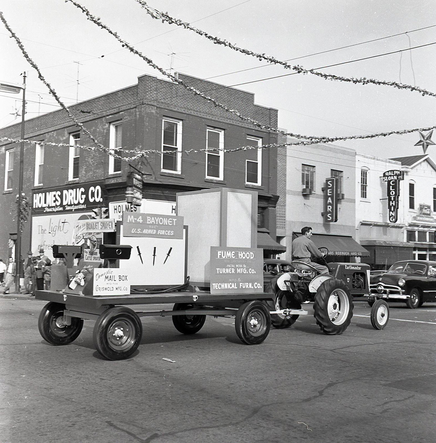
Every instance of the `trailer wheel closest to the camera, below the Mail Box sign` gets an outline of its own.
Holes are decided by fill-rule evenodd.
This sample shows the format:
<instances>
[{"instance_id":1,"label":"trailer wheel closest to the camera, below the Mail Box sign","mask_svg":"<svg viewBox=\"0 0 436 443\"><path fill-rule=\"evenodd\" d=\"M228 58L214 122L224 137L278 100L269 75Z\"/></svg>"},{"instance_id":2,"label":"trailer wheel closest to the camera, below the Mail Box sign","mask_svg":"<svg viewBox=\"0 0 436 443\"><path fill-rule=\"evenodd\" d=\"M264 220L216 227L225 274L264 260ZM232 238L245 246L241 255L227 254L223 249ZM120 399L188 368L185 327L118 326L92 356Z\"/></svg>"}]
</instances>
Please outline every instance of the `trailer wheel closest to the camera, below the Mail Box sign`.
<instances>
[{"instance_id":1,"label":"trailer wheel closest to the camera, below the Mail Box sign","mask_svg":"<svg viewBox=\"0 0 436 443\"><path fill-rule=\"evenodd\" d=\"M94 346L108 360L124 360L136 351L142 323L135 311L115 306L104 311L94 325Z\"/></svg>"}]
</instances>

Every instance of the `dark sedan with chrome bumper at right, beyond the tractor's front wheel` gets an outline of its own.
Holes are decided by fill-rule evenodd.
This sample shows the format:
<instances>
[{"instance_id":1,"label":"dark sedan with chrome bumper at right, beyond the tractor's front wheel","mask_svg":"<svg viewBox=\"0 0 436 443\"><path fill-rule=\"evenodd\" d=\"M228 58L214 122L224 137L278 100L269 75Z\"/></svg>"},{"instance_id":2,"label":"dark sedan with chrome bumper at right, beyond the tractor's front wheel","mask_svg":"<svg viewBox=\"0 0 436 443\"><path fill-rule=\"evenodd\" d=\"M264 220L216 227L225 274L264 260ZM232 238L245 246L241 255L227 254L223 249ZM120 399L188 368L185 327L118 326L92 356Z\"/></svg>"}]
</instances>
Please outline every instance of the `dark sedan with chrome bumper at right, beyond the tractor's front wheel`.
<instances>
[{"instance_id":1,"label":"dark sedan with chrome bumper at right, beyond the tractor's front wheel","mask_svg":"<svg viewBox=\"0 0 436 443\"><path fill-rule=\"evenodd\" d=\"M369 304L375 294L384 300L405 302L415 309L424 302L436 302L436 262L427 260L402 260L394 263L387 272L370 277Z\"/></svg>"}]
</instances>

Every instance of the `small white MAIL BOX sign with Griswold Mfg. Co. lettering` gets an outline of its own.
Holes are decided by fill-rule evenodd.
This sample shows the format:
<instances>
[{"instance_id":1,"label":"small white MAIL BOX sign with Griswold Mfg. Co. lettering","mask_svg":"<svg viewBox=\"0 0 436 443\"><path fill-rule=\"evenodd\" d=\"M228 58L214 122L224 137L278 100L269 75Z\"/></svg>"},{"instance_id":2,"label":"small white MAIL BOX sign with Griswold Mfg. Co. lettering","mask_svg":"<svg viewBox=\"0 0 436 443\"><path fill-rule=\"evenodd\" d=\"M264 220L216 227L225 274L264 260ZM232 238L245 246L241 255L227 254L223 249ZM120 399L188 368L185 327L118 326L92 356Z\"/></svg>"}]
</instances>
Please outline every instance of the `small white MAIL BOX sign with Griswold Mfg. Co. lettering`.
<instances>
[{"instance_id":1,"label":"small white MAIL BOX sign with Griswold Mfg. Co. lettering","mask_svg":"<svg viewBox=\"0 0 436 443\"><path fill-rule=\"evenodd\" d=\"M130 294L129 272L119 268L94 268L93 296Z\"/></svg>"}]
</instances>

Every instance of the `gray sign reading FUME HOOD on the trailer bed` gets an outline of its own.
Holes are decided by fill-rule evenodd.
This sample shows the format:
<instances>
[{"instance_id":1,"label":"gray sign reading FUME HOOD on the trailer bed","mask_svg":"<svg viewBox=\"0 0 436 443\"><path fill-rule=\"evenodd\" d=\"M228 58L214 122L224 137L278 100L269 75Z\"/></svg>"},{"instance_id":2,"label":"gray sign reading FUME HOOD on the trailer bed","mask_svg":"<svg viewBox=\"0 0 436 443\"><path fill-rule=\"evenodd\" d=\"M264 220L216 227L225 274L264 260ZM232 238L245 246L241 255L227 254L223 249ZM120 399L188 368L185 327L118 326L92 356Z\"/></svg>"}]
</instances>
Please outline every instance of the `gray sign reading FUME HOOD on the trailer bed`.
<instances>
[{"instance_id":1,"label":"gray sign reading FUME HOOD on the trailer bed","mask_svg":"<svg viewBox=\"0 0 436 443\"><path fill-rule=\"evenodd\" d=\"M263 292L263 249L210 248L210 293Z\"/></svg>"}]
</instances>

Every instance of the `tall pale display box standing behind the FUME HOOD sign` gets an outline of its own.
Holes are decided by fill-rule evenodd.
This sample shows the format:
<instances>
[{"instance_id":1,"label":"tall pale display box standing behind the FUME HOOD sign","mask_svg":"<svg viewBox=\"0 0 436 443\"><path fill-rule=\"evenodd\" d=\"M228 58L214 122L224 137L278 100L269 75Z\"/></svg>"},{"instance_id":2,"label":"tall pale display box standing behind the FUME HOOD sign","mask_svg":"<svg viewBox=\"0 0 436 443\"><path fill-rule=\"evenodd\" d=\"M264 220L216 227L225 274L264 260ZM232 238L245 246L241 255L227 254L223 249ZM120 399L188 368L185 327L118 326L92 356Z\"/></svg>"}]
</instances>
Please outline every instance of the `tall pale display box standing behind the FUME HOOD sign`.
<instances>
[{"instance_id":1,"label":"tall pale display box standing behind the FUME HOOD sign","mask_svg":"<svg viewBox=\"0 0 436 443\"><path fill-rule=\"evenodd\" d=\"M177 193L177 215L189 228L188 276L210 286L210 247L257 247L257 192L205 189Z\"/></svg>"}]
</instances>

